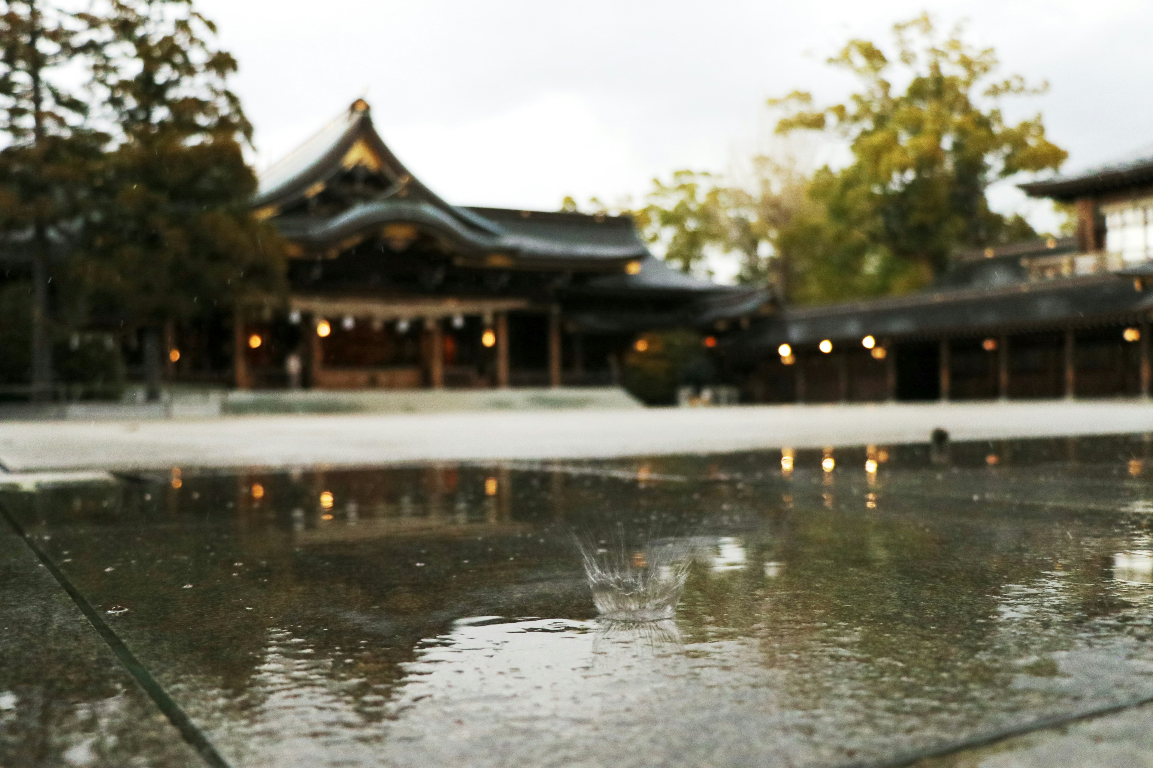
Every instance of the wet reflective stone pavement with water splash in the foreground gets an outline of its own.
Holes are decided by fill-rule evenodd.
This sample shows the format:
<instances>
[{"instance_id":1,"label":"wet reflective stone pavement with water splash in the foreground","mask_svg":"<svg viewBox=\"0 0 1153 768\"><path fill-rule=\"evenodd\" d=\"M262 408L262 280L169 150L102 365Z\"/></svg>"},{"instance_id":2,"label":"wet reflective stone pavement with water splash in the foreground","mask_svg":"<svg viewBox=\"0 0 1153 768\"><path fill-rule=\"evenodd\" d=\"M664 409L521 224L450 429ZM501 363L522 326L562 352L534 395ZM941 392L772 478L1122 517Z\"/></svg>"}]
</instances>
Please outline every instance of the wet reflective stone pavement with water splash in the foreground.
<instances>
[{"instance_id":1,"label":"wet reflective stone pavement with water splash in the foreground","mask_svg":"<svg viewBox=\"0 0 1153 768\"><path fill-rule=\"evenodd\" d=\"M2 768L1153 766L1150 435L0 504Z\"/></svg>"}]
</instances>

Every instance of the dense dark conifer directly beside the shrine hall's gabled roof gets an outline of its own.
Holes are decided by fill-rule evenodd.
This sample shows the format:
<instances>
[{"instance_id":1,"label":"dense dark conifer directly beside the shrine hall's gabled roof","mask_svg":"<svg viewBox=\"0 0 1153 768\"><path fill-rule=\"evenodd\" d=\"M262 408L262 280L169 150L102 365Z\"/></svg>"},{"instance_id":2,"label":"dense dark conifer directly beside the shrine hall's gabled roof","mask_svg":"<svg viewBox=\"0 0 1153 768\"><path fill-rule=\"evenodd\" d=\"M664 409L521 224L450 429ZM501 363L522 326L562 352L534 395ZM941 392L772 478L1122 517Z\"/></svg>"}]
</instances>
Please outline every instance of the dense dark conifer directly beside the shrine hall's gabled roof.
<instances>
[{"instance_id":1,"label":"dense dark conifer directly beside the shrine hall's gabled roof","mask_svg":"<svg viewBox=\"0 0 1153 768\"><path fill-rule=\"evenodd\" d=\"M73 274L91 311L140 328L149 396L159 396L159 332L233 311L284 287L285 246L248 200L251 126L211 47L216 26L190 0L107 0L97 79L119 144Z\"/></svg>"}]
</instances>

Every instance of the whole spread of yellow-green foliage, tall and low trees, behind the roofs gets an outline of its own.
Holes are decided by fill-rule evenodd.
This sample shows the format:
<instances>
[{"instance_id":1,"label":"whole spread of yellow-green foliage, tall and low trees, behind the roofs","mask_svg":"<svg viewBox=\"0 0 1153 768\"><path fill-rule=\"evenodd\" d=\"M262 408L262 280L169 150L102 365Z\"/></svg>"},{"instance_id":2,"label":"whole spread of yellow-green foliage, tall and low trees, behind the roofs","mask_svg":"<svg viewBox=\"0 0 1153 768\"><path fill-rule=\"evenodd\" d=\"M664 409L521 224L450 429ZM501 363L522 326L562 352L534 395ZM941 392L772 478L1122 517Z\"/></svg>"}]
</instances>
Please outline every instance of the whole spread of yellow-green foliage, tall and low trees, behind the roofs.
<instances>
[{"instance_id":1,"label":"whole spread of yellow-green foliage, tall and low trees, behind the roofs","mask_svg":"<svg viewBox=\"0 0 1153 768\"><path fill-rule=\"evenodd\" d=\"M829 59L857 79L844 102L816 108L799 91L769 101L777 134L843 142L844 166L811 172L778 147L741 173L678 170L654 180L643 205L617 208L685 272L737 258L738 281L805 304L914 290L957 250L1035 237L1020 215L992 211L986 191L1065 159L1040 115L1011 123L1002 112L1045 86L998 77L995 52L963 32L942 38L927 15L896 24L889 53L858 39Z\"/></svg>"}]
</instances>

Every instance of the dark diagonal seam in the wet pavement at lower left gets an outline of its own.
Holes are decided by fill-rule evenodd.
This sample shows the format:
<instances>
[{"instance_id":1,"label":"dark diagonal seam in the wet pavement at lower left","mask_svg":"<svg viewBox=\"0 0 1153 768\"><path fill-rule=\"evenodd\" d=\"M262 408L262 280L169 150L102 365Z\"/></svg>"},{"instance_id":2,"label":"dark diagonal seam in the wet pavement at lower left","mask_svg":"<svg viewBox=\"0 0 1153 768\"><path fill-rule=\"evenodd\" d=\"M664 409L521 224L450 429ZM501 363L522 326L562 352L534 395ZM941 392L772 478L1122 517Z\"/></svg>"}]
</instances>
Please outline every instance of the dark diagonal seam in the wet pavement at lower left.
<instances>
[{"instance_id":1,"label":"dark diagonal seam in the wet pavement at lower left","mask_svg":"<svg viewBox=\"0 0 1153 768\"><path fill-rule=\"evenodd\" d=\"M55 563L47 556L47 554L40 549L39 545L24 531L23 526L16 522L16 518L8 511L8 508L0 503L0 516L2 516L8 525L16 532L16 534L24 540L24 543L32 554L40 561L40 563L48 570L48 573L56 580L71 601L76 604L84 617L92 625L92 629L97 631L100 638L104 640L105 645L115 654L116 659L121 664L128 670L128 674L133 676L136 683L144 689L144 692L156 702L156 706L160 708L168 722L180 731L183 739L201 755L201 758L211 768L232 768L227 760L217 751L217 748L209 742L208 737L204 736L203 731L196 727L191 717L180 707L176 701L168 695L168 692L157 682L152 674L141 663L123 640L112 630L111 626L100 617L100 614L89 603L89 601L80 593L80 591L68 580L68 577L56 568Z\"/></svg>"}]
</instances>

